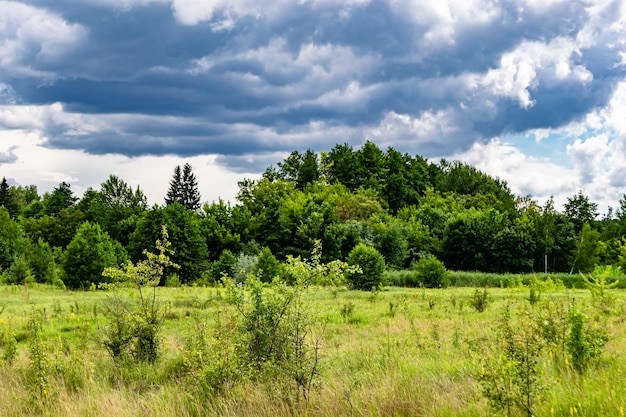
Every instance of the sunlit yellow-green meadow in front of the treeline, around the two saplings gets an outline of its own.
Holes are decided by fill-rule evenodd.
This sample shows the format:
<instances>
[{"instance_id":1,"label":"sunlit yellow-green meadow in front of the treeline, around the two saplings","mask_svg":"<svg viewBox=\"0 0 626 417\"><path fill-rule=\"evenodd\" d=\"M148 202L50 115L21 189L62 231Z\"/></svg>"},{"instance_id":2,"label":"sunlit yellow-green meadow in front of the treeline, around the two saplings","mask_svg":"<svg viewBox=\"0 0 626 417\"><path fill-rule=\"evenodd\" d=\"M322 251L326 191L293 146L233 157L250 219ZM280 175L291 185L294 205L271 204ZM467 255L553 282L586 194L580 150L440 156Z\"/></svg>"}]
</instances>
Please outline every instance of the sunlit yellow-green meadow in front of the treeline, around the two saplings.
<instances>
[{"instance_id":1,"label":"sunlit yellow-green meadow in front of the treeline, around the two saplings","mask_svg":"<svg viewBox=\"0 0 626 417\"><path fill-rule=\"evenodd\" d=\"M234 364L241 313L224 288L157 288L150 362L114 360L102 343L111 301L136 290L3 286L0 415L624 415L624 290L484 291L306 289L309 356L296 365L315 369L302 385L278 365Z\"/></svg>"}]
</instances>

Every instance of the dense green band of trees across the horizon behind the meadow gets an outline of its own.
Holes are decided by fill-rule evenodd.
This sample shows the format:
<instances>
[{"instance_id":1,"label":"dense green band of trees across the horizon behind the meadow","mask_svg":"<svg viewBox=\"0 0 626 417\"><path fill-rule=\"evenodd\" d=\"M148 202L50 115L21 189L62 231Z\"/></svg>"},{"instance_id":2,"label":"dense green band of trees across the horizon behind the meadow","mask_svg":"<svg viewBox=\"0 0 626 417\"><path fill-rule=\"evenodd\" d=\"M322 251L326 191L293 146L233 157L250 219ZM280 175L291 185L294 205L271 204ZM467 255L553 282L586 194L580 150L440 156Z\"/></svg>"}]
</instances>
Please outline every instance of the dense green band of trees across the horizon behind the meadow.
<instances>
[{"instance_id":1,"label":"dense green band of trees across the horizon behind the meadow","mask_svg":"<svg viewBox=\"0 0 626 417\"><path fill-rule=\"evenodd\" d=\"M497 273L626 264L626 196L601 220L582 192L559 212L470 165L434 164L372 142L294 151L239 183L237 200L201 205L188 164L175 169L165 204L152 207L139 187L114 175L82 198L65 182L41 196L3 179L0 273L9 283L86 288L104 279L105 267L153 250L163 224L180 265L174 279L186 284L271 276L288 255L309 256L317 241L324 262L346 260L363 244L391 269L426 255L449 269Z\"/></svg>"}]
</instances>

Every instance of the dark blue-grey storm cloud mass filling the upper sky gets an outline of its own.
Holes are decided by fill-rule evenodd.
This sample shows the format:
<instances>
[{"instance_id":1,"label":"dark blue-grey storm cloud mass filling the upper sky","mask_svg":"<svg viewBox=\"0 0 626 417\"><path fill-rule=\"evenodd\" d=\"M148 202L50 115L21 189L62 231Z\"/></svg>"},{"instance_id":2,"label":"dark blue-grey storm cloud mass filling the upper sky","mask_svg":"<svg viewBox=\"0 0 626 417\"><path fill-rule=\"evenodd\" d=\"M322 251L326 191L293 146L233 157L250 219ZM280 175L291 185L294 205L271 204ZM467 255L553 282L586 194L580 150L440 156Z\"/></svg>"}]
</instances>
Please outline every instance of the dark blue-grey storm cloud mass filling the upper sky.
<instances>
[{"instance_id":1,"label":"dark blue-grey storm cloud mass filling the upper sky","mask_svg":"<svg viewBox=\"0 0 626 417\"><path fill-rule=\"evenodd\" d=\"M246 153L374 137L443 155L580 119L605 106L625 75L609 42L620 34L602 32L619 16L617 1L596 15L579 1L485 2L493 15L480 21L464 17L467 10L455 15L450 5L451 18L441 17L429 2L422 5L430 17L422 18L409 2L349 9L285 2L280 12L248 15L235 1L232 12L216 8L211 19L193 22L169 1L3 2L26 3L32 13L65 22L66 43L47 59L32 43L28 53L17 49L17 58L0 55L7 70L0 86L23 104L61 103L63 112L44 123L47 146L94 154L218 153L234 163L245 162L239 155ZM218 23L226 29L215 30ZM601 41L572 47L559 62L533 61L532 48L504 62L520 45L575 43L583 31ZM20 41L12 32L1 37ZM44 50L47 41L40 42ZM563 65L571 74L550 72ZM578 77L576 66L588 76ZM390 113L418 121L445 114L451 125L430 136L383 138L376 131ZM88 129L77 128L76 115Z\"/></svg>"}]
</instances>

